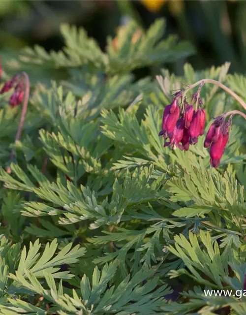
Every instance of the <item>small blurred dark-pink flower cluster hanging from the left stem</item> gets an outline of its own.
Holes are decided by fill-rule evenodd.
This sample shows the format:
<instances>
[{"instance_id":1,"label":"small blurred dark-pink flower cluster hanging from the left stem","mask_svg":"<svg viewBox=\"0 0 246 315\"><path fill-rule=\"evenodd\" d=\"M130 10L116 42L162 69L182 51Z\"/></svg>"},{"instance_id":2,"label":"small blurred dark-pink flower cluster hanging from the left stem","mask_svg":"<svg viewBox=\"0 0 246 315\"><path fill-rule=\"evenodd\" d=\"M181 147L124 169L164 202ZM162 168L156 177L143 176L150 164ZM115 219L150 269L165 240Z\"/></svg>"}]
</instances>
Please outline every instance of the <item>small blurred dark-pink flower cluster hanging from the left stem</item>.
<instances>
[{"instance_id":1,"label":"small blurred dark-pink flower cluster hanging from the left stem","mask_svg":"<svg viewBox=\"0 0 246 315\"><path fill-rule=\"evenodd\" d=\"M1 71L1 66L0 66ZM14 93L10 96L9 105L11 107L16 107L20 105L24 98L24 84L23 79L21 78L18 81L19 75L15 75L11 80L4 83L3 87L0 90L0 94L4 94L14 88Z\"/></svg>"}]
</instances>

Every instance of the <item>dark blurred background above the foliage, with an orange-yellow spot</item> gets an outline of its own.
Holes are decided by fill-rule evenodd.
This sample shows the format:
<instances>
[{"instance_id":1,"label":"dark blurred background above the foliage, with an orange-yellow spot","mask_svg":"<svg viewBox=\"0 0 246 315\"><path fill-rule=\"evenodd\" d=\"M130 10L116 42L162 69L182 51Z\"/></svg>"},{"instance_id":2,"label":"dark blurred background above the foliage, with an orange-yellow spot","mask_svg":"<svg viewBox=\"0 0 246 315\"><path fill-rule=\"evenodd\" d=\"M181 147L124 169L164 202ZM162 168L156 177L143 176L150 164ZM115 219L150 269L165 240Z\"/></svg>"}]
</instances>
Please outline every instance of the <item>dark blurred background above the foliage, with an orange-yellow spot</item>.
<instances>
[{"instance_id":1,"label":"dark blurred background above the foliage, with an orange-yellow spot","mask_svg":"<svg viewBox=\"0 0 246 315\"><path fill-rule=\"evenodd\" d=\"M143 28L165 17L165 36L193 44L195 55L168 66L177 74L185 62L199 70L230 61L230 72L246 71L244 0L0 0L0 55L4 63L25 46L60 50L61 23L84 27L104 49L127 16Z\"/></svg>"}]
</instances>

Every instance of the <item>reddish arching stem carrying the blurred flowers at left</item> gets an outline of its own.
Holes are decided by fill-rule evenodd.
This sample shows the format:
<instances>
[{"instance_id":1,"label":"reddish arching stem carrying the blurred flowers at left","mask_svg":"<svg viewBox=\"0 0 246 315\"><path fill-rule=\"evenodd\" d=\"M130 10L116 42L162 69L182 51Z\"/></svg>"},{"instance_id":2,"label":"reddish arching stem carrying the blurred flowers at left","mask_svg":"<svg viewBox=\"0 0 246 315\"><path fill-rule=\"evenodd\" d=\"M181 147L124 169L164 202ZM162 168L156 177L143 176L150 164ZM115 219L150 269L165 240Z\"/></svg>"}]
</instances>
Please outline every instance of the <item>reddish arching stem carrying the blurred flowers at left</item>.
<instances>
[{"instance_id":1,"label":"reddish arching stem carrying the blurred flowers at left","mask_svg":"<svg viewBox=\"0 0 246 315\"><path fill-rule=\"evenodd\" d=\"M29 94L30 94L30 81L29 81L29 76L26 72L21 72L18 74L19 76L24 76L25 77L25 97L22 105L22 112L21 112L21 119L20 123L15 135L15 143L16 141L20 140L21 137L21 131L23 129L24 123L25 123L25 118L28 110L28 101L29 101ZM10 160L12 161L15 158L15 149L12 149ZM7 169L7 172L10 173L10 168Z\"/></svg>"}]
</instances>

